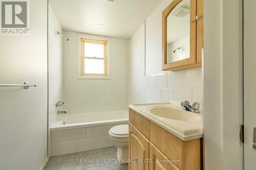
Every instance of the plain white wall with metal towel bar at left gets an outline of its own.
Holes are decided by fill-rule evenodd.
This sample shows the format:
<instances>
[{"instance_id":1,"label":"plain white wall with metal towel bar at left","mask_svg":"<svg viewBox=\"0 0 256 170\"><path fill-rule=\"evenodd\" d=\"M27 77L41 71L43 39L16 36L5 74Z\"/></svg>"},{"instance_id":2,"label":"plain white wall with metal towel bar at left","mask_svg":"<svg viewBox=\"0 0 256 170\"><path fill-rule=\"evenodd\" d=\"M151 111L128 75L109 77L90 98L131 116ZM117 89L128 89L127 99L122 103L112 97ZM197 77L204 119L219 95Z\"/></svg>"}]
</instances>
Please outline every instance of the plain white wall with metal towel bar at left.
<instances>
[{"instance_id":1,"label":"plain white wall with metal towel bar at left","mask_svg":"<svg viewBox=\"0 0 256 170\"><path fill-rule=\"evenodd\" d=\"M0 169L39 170L47 158L47 1L30 3L30 35L1 36Z\"/></svg>"}]
</instances>

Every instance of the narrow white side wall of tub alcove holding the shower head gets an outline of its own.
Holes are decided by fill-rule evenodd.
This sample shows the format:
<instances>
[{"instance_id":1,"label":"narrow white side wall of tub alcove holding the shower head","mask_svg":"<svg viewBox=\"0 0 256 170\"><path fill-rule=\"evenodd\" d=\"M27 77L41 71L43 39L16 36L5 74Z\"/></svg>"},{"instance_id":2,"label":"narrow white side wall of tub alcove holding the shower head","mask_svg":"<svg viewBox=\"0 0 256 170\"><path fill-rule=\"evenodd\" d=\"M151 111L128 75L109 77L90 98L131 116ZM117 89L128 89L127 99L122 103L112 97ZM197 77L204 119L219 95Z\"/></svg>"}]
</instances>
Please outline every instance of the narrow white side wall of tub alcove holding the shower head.
<instances>
[{"instance_id":1,"label":"narrow white side wall of tub alcove holding the shower head","mask_svg":"<svg viewBox=\"0 0 256 170\"><path fill-rule=\"evenodd\" d=\"M49 127L52 127L57 119L57 110L62 107L55 107L58 101L63 101L63 40L57 35L57 31L62 32L59 21L49 4L48 9L48 60L49 60Z\"/></svg>"}]
</instances>

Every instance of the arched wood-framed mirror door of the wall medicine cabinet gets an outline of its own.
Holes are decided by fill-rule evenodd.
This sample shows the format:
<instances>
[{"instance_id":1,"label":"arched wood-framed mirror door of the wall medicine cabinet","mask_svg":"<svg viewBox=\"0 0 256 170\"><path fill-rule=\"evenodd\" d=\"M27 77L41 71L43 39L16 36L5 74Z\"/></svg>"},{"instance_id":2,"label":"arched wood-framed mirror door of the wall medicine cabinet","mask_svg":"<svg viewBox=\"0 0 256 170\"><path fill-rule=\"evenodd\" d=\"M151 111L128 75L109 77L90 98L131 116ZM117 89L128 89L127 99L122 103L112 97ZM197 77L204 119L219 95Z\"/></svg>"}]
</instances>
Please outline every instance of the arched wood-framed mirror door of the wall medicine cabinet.
<instances>
[{"instance_id":1,"label":"arched wood-framed mirror door of the wall medicine cabinet","mask_svg":"<svg viewBox=\"0 0 256 170\"><path fill-rule=\"evenodd\" d=\"M175 0L163 11L162 70L201 66L197 63L196 15L197 0Z\"/></svg>"}]
</instances>

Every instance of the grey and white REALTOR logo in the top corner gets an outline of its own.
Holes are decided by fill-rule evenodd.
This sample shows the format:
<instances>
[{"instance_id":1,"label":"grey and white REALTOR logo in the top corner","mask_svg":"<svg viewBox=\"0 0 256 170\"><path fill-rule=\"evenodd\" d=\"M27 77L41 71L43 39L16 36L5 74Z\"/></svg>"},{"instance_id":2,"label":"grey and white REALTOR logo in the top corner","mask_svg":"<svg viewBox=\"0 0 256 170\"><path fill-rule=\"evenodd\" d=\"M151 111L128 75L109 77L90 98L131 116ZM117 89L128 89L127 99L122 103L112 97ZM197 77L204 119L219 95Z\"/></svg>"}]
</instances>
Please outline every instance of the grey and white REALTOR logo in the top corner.
<instances>
[{"instance_id":1,"label":"grey and white REALTOR logo in the top corner","mask_svg":"<svg viewBox=\"0 0 256 170\"><path fill-rule=\"evenodd\" d=\"M28 35L28 0L1 1L1 35Z\"/></svg>"}]
</instances>

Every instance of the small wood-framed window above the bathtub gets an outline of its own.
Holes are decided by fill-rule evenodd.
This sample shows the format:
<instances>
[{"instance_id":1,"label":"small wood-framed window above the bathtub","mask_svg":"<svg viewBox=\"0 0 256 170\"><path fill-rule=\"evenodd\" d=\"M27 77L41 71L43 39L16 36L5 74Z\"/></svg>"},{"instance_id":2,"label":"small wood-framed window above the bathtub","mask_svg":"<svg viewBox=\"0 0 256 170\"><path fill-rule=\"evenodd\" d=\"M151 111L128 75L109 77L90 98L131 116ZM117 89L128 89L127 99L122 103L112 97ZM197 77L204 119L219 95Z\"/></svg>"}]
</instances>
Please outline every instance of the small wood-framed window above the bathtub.
<instances>
[{"instance_id":1,"label":"small wood-framed window above the bathtub","mask_svg":"<svg viewBox=\"0 0 256 170\"><path fill-rule=\"evenodd\" d=\"M108 76L108 41L81 38L81 76Z\"/></svg>"}]
</instances>

